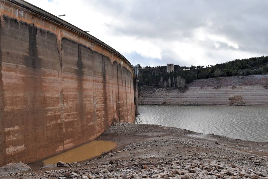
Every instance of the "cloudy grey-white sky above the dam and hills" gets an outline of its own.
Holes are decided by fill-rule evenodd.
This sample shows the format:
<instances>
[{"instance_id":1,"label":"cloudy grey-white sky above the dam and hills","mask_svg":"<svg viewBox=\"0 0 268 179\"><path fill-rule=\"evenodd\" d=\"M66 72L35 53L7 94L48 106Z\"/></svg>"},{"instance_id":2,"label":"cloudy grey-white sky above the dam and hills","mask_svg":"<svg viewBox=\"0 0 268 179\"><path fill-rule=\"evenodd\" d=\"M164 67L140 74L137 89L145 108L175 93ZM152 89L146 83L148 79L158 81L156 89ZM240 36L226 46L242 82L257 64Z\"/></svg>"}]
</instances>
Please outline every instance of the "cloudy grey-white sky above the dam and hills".
<instances>
[{"instance_id":1,"label":"cloudy grey-white sky above the dam and hills","mask_svg":"<svg viewBox=\"0 0 268 179\"><path fill-rule=\"evenodd\" d=\"M268 55L267 0L27 0L130 63L215 65Z\"/></svg>"}]
</instances>

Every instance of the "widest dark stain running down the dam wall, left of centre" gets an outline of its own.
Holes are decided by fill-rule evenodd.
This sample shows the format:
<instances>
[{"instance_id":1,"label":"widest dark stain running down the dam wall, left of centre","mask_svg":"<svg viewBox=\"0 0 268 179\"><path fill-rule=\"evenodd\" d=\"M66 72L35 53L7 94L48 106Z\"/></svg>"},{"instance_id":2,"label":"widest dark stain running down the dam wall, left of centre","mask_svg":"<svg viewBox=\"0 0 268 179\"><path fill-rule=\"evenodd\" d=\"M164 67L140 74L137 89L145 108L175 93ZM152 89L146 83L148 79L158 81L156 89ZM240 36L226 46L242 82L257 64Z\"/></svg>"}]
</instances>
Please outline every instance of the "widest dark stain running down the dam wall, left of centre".
<instances>
[{"instance_id":1,"label":"widest dark stain running down the dam wall, left of centre","mask_svg":"<svg viewBox=\"0 0 268 179\"><path fill-rule=\"evenodd\" d=\"M46 151L42 150L44 146L45 136L40 135L40 131L44 130L46 122L46 112L44 106L45 95L43 91L43 70L42 59L38 57L37 36L41 35L37 32L34 24L27 24L29 31L28 41L28 56L24 56L24 65L28 67L28 71L23 77L24 88L21 89L25 96L25 106L23 107L23 118L26 127L34 130L29 131L25 129L25 148L32 148L34 152L31 156L43 155ZM32 140L32 139L35 140Z\"/></svg>"}]
</instances>

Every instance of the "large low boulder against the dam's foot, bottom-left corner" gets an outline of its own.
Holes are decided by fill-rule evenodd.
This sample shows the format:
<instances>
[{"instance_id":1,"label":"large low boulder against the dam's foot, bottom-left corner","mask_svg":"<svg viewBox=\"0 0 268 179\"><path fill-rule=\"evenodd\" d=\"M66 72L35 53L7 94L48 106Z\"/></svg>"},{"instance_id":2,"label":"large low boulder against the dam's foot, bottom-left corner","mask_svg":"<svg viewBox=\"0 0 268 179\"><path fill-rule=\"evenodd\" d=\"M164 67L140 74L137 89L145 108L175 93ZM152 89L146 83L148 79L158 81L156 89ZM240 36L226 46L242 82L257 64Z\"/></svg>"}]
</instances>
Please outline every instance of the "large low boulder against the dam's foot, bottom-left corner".
<instances>
[{"instance_id":1,"label":"large low boulder against the dam's foot, bottom-left corner","mask_svg":"<svg viewBox=\"0 0 268 179\"><path fill-rule=\"evenodd\" d=\"M0 172L12 173L12 172L25 172L25 171L32 171L32 169L27 164L24 164L22 162L10 163L0 167Z\"/></svg>"}]
</instances>

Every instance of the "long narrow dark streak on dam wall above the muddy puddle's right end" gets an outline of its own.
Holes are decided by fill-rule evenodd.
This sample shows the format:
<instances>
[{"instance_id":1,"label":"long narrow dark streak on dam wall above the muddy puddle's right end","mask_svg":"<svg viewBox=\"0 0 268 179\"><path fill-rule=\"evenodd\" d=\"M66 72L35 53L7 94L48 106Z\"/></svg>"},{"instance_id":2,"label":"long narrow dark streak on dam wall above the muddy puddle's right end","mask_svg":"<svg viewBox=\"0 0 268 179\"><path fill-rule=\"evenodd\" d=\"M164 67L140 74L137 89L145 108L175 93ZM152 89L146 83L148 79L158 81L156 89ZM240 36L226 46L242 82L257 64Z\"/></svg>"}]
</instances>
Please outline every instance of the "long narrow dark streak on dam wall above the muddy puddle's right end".
<instances>
[{"instance_id":1,"label":"long narrow dark streak on dam wall above the muddy puddle's right end","mask_svg":"<svg viewBox=\"0 0 268 179\"><path fill-rule=\"evenodd\" d=\"M104 99L104 129L106 130L109 126L109 119L108 119L108 114L107 114L107 91L106 91L106 71L105 71L105 58L102 53L102 87L103 87L103 99Z\"/></svg>"}]
</instances>

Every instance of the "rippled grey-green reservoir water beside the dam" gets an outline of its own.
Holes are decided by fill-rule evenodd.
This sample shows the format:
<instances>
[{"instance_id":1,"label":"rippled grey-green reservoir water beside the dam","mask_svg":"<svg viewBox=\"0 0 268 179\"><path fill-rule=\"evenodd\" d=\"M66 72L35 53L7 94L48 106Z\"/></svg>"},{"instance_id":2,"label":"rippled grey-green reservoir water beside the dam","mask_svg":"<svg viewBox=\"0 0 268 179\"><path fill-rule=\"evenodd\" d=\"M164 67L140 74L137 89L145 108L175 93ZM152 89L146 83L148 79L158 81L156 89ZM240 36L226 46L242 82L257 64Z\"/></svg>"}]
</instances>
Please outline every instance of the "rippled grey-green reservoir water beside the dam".
<instances>
[{"instance_id":1,"label":"rippled grey-green reservoir water beside the dam","mask_svg":"<svg viewBox=\"0 0 268 179\"><path fill-rule=\"evenodd\" d=\"M268 142L267 106L138 106L136 123Z\"/></svg>"}]
</instances>

